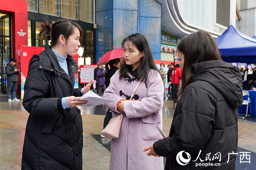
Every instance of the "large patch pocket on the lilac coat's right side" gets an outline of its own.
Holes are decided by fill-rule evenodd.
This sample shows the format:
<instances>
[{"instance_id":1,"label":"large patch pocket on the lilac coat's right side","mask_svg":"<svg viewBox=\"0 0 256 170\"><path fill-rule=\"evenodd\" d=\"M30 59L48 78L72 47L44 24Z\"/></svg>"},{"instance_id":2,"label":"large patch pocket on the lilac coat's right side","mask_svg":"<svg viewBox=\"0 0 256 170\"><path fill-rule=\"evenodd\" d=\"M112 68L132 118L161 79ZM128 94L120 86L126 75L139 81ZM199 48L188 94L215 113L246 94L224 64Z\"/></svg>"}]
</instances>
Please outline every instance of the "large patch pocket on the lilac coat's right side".
<instances>
[{"instance_id":1,"label":"large patch pocket on the lilac coat's right side","mask_svg":"<svg viewBox=\"0 0 256 170\"><path fill-rule=\"evenodd\" d=\"M142 119L142 138L144 140L159 140L162 139L161 133L156 128L155 123L162 122L160 114L150 114Z\"/></svg>"}]
</instances>

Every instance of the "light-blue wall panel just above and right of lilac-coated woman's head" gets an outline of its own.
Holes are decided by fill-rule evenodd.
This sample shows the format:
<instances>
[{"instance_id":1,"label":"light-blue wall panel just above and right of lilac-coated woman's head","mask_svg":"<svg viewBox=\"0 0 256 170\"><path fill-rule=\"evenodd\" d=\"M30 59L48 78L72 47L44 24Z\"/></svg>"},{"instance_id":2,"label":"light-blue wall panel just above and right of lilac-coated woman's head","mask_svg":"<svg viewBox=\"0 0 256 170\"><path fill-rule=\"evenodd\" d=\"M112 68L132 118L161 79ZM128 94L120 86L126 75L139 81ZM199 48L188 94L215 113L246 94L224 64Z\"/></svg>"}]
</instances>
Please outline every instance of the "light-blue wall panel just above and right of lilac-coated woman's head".
<instances>
[{"instance_id":1,"label":"light-blue wall panel just above and right of lilac-coated woman's head","mask_svg":"<svg viewBox=\"0 0 256 170\"><path fill-rule=\"evenodd\" d=\"M151 52L160 55L161 18L140 17L140 33L147 38Z\"/></svg>"}]
</instances>

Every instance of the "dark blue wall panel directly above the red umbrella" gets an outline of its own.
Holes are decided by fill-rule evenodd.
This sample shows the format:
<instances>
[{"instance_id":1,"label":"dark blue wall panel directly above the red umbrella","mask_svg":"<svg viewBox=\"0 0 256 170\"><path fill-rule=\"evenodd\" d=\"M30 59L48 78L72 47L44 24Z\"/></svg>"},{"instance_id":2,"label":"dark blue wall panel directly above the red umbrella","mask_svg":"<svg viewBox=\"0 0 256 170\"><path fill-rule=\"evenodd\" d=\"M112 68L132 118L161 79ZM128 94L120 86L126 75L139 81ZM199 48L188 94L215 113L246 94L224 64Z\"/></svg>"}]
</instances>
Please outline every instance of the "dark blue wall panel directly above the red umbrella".
<instances>
[{"instance_id":1,"label":"dark blue wall panel directly above the red umbrella","mask_svg":"<svg viewBox=\"0 0 256 170\"><path fill-rule=\"evenodd\" d=\"M96 12L96 63L107 51L112 50L112 10Z\"/></svg>"}]
</instances>

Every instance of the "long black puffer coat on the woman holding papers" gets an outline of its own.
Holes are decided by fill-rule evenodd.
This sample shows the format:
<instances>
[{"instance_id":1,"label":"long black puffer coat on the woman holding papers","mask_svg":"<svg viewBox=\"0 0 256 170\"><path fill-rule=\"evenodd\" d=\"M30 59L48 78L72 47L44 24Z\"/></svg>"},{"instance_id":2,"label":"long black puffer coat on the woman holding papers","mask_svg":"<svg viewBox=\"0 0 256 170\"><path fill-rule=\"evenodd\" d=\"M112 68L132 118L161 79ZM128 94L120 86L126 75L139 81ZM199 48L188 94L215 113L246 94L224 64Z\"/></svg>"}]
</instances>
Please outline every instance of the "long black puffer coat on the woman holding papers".
<instances>
[{"instance_id":1,"label":"long black puffer coat on the woman holding papers","mask_svg":"<svg viewBox=\"0 0 256 170\"><path fill-rule=\"evenodd\" d=\"M82 169L80 110L61 106L62 97L82 95L81 88L74 89L76 61L68 55L67 63L70 77L50 46L29 62L22 104L30 115L21 169Z\"/></svg>"}]
</instances>

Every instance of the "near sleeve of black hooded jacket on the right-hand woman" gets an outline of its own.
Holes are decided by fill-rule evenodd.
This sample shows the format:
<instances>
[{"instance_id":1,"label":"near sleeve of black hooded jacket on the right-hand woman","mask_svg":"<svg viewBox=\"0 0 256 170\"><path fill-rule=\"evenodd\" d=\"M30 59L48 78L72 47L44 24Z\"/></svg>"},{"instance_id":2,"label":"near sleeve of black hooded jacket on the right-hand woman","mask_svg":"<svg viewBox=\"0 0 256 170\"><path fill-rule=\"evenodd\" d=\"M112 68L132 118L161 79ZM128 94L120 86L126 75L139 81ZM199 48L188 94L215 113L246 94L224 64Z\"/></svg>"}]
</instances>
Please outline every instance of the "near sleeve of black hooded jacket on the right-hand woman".
<instances>
[{"instance_id":1,"label":"near sleeve of black hooded jacket on the right-hand woman","mask_svg":"<svg viewBox=\"0 0 256 170\"><path fill-rule=\"evenodd\" d=\"M215 106L216 99L209 92L195 87L186 88L172 122L171 130L174 135L155 142L155 152L175 159L180 151L192 156L203 150L211 137Z\"/></svg>"}]
</instances>

